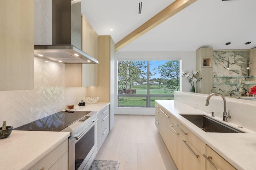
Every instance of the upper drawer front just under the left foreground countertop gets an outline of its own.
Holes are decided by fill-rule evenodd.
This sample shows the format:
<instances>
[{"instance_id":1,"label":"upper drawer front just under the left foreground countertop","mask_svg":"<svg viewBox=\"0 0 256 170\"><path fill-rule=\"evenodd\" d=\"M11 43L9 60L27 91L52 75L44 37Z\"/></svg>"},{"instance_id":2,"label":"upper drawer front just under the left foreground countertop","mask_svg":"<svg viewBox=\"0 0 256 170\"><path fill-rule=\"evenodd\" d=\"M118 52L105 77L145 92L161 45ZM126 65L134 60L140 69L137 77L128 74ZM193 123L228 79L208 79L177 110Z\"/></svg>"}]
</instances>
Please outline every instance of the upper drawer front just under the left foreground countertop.
<instances>
[{"instance_id":1,"label":"upper drawer front just under the left foreground countertop","mask_svg":"<svg viewBox=\"0 0 256 170\"><path fill-rule=\"evenodd\" d=\"M49 152L46 156L44 156L41 160L36 162L31 168L28 170L38 170L44 167L45 170L50 169L64 154L68 153L68 139L63 141L58 147ZM68 157L67 157L68 158ZM68 159L63 157L66 162L63 162L62 167L68 167ZM63 170L67 170L63 169Z\"/></svg>"}]
</instances>

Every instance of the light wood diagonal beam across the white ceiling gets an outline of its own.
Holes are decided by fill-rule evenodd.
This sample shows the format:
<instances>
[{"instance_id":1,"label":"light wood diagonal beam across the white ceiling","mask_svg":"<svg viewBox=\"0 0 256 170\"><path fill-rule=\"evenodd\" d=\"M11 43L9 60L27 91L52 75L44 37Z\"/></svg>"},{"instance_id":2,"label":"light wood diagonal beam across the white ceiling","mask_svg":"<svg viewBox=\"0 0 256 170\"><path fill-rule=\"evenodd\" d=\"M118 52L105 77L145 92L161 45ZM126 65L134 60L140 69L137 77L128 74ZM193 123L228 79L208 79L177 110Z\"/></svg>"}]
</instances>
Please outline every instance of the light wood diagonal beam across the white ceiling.
<instances>
[{"instance_id":1,"label":"light wood diagonal beam across the white ceiling","mask_svg":"<svg viewBox=\"0 0 256 170\"><path fill-rule=\"evenodd\" d=\"M122 47L126 46L130 42L134 41L144 33L148 32L150 29L156 27L163 21L167 20L171 16L174 16L190 4L196 2L197 0L176 0L164 10L156 14L154 17L152 17L150 20L146 21L144 24L142 24L140 27L132 31L130 34L128 34L126 37L121 39L115 44L115 51L118 51Z\"/></svg>"}]
</instances>

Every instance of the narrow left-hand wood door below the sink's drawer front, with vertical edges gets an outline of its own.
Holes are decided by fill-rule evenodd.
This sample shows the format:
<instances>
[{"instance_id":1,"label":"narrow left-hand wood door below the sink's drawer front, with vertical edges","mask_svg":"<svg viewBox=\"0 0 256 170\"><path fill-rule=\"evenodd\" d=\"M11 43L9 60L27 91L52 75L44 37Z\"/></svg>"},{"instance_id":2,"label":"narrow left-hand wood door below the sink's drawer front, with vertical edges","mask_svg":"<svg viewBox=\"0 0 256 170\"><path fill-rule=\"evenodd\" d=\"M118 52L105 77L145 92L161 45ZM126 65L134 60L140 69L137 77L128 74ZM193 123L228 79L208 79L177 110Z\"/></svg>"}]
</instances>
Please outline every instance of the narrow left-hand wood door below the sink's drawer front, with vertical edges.
<instances>
[{"instance_id":1,"label":"narrow left-hand wood door below the sink's drawer front, with vertical edges","mask_svg":"<svg viewBox=\"0 0 256 170\"><path fill-rule=\"evenodd\" d=\"M172 118L171 118L172 119ZM174 163L179 170L182 169L182 135L178 128L172 123L169 126L170 129L170 146L168 148Z\"/></svg>"}]
</instances>

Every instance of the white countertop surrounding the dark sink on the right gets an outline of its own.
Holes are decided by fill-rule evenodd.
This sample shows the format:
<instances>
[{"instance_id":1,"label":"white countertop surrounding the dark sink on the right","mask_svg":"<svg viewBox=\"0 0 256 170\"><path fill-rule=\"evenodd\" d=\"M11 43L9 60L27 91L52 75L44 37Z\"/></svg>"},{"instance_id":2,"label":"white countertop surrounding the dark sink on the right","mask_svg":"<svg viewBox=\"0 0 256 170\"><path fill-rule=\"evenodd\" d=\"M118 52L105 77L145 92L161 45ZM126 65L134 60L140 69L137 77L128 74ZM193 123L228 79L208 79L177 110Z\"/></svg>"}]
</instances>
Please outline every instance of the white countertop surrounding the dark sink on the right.
<instances>
[{"instance_id":1,"label":"white countertop surrounding the dark sink on the right","mask_svg":"<svg viewBox=\"0 0 256 170\"><path fill-rule=\"evenodd\" d=\"M239 125L223 122L218 117L211 117L246 133L207 133L182 117L180 114L209 114L182 104L175 100L156 100L158 104L170 111L185 127L214 149L238 170L256 170L256 132L240 129Z\"/></svg>"}]
</instances>

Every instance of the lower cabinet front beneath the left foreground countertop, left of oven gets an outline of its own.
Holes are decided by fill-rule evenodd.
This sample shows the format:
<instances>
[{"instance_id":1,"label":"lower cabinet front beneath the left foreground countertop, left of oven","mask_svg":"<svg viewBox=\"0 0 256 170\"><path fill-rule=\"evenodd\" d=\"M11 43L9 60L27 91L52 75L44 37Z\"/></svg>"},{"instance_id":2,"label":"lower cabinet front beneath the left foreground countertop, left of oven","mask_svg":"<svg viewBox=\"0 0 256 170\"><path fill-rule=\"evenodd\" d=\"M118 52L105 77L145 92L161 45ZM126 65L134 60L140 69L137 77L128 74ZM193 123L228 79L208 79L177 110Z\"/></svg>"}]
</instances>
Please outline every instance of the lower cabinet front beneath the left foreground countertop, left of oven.
<instances>
[{"instance_id":1,"label":"lower cabinet front beneath the left foreground countertop, left of oven","mask_svg":"<svg viewBox=\"0 0 256 170\"><path fill-rule=\"evenodd\" d=\"M68 170L68 139L28 170Z\"/></svg>"}]
</instances>

